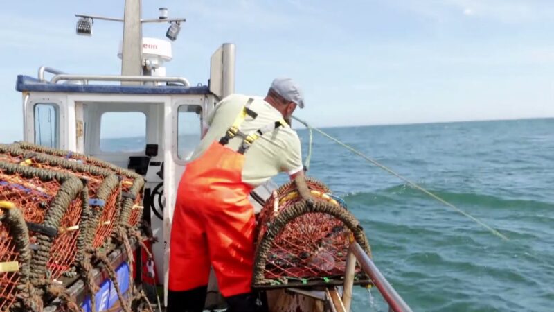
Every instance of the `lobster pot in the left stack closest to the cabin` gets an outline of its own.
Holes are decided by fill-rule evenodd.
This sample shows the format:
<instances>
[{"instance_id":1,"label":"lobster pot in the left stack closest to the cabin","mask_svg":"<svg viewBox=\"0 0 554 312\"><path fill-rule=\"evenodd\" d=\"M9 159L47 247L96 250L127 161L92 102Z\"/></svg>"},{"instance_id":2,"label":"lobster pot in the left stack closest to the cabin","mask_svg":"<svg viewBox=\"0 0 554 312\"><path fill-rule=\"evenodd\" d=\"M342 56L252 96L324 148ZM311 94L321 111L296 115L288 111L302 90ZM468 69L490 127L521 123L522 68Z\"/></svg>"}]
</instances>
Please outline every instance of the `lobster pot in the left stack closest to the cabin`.
<instances>
[{"instance_id":1,"label":"lobster pot in the left stack closest to the cabin","mask_svg":"<svg viewBox=\"0 0 554 312\"><path fill-rule=\"evenodd\" d=\"M12 146L14 148L19 148L21 150L26 150L34 153L43 153L47 155L55 155L64 159L70 159L74 162L102 168L106 171L114 173L115 175L118 175L121 179L122 187L122 203L121 211L118 214L118 222L125 226L128 225L130 228L134 228L139 225L143 214L142 194L144 191L144 179L143 177L141 177L141 175L115 166L114 164L110 164L109 162L105 162L94 157L89 157L87 155L69 152L66 150L57 150L55 148L48 148L36 144L30 144L24 141L12 144Z\"/></svg>"}]
</instances>

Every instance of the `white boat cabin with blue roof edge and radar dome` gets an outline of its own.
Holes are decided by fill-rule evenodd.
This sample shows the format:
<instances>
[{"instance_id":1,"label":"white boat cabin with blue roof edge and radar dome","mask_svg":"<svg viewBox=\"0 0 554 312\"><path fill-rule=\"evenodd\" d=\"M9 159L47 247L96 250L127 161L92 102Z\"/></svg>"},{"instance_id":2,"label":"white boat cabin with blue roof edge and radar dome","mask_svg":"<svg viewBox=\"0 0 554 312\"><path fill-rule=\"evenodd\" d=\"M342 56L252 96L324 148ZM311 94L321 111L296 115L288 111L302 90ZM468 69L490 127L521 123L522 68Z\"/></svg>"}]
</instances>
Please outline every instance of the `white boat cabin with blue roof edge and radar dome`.
<instances>
[{"instance_id":1,"label":"white boat cabin with blue roof edge and radar dome","mask_svg":"<svg viewBox=\"0 0 554 312\"><path fill-rule=\"evenodd\" d=\"M169 42L144 38L143 64L163 64L170 55ZM202 120L234 92L235 46L223 44L210 62L210 80L198 85L162 76L159 66L150 68L152 76L72 75L40 67L37 78L17 77L24 141L97 157L145 177L144 214L158 240L154 261L163 284L179 178L202 137Z\"/></svg>"}]
</instances>

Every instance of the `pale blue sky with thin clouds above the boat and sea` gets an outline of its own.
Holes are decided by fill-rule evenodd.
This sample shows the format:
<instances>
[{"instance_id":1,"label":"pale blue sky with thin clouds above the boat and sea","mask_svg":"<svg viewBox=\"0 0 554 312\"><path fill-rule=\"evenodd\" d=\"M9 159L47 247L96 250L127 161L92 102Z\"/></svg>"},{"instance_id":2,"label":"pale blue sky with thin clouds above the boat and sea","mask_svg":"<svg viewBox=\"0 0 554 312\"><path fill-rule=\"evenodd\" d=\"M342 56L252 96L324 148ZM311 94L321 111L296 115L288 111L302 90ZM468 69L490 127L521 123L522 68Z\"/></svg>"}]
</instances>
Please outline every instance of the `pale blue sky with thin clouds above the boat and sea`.
<instances>
[{"instance_id":1,"label":"pale blue sky with thin clouds above the boat and sea","mask_svg":"<svg viewBox=\"0 0 554 312\"><path fill-rule=\"evenodd\" d=\"M187 19L168 76L206 84L212 53L234 43L235 91L289 76L305 93L296 116L315 126L554 117L551 0L143 0L143 18L162 6ZM18 74L120 73L122 24L82 37L74 13L122 17L123 0L3 4L0 141L23 136Z\"/></svg>"}]
</instances>

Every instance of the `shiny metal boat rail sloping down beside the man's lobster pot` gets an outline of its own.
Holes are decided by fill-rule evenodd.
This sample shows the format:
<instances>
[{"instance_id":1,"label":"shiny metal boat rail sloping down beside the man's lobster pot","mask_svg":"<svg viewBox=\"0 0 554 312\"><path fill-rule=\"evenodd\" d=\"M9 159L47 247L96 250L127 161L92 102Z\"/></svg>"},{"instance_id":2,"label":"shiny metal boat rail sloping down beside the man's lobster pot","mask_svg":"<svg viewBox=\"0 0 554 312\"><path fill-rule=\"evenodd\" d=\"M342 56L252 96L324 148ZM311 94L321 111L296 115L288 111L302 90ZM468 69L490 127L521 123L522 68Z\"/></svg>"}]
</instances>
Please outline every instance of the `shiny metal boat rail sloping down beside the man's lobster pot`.
<instances>
[{"instance_id":1,"label":"shiny metal boat rail sloping down beside the man's lobster pot","mask_svg":"<svg viewBox=\"0 0 554 312\"><path fill-rule=\"evenodd\" d=\"M366 252L364 252L364 250L358 243L352 242L350 244L349 252L355 255L361 268L364 270L364 272L366 272L367 275L369 275L371 281L373 281L373 284L375 285L375 287L377 287L379 293L381 293L384 300L388 303L388 306L391 308L392 311L411 312L408 304L406 304L402 297L398 295L393 286L388 283L388 281L379 271L377 266L375 266L375 263L373 263L373 261L366 254Z\"/></svg>"}]
</instances>

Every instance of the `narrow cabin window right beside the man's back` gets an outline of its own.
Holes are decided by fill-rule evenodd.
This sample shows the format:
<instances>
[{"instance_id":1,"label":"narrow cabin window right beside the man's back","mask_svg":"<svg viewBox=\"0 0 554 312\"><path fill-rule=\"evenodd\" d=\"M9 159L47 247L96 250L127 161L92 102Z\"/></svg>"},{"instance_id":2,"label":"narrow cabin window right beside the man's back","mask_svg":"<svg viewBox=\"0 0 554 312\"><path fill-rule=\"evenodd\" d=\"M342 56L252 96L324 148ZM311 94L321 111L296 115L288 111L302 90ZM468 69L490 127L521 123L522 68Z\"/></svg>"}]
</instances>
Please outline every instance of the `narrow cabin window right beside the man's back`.
<instances>
[{"instance_id":1,"label":"narrow cabin window right beside the man's back","mask_svg":"<svg viewBox=\"0 0 554 312\"><path fill-rule=\"evenodd\" d=\"M181 105L177 114L177 156L190 160L202 138L202 106Z\"/></svg>"}]
</instances>

